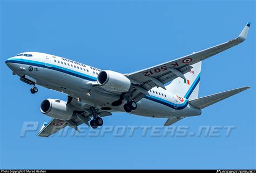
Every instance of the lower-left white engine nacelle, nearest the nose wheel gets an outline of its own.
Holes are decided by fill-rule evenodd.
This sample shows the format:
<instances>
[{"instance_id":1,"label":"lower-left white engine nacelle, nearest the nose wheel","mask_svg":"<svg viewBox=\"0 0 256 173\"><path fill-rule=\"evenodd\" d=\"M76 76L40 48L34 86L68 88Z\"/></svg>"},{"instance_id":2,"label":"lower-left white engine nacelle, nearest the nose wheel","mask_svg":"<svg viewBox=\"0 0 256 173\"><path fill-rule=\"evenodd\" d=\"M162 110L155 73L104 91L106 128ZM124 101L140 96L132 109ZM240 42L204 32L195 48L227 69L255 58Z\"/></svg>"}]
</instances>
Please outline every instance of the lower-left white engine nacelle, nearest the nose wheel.
<instances>
[{"instance_id":1,"label":"lower-left white engine nacelle, nearest the nose wheel","mask_svg":"<svg viewBox=\"0 0 256 173\"><path fill-rule=\"evenodd\" d=\"M49 117L60 120L70 120L73 116L73 109L66 102L51 98L43 100L40 111Z\"/></svg>"}]
</instances>

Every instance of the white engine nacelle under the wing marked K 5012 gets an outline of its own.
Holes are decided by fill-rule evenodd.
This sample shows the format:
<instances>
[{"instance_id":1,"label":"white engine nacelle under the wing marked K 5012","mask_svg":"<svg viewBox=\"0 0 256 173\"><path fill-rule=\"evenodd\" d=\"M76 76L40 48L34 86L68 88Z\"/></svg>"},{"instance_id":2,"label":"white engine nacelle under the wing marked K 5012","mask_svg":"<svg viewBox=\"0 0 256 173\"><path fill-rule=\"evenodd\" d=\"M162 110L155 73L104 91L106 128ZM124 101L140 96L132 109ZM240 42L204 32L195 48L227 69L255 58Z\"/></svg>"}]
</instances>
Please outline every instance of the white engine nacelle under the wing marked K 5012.
<instances>
[{"instance_id":1,"label":"white engine nacelle under the wing marked K 5012","mask_svg":"<svg viewBox=\"0 0 256 173\"><path fill-rule=\"evenodd\" d=\"M104 70L100 71L98 75L98 84L110 91L127 92L130 89L131 81L116 71Z\"/></svg>"}]
</instances>

